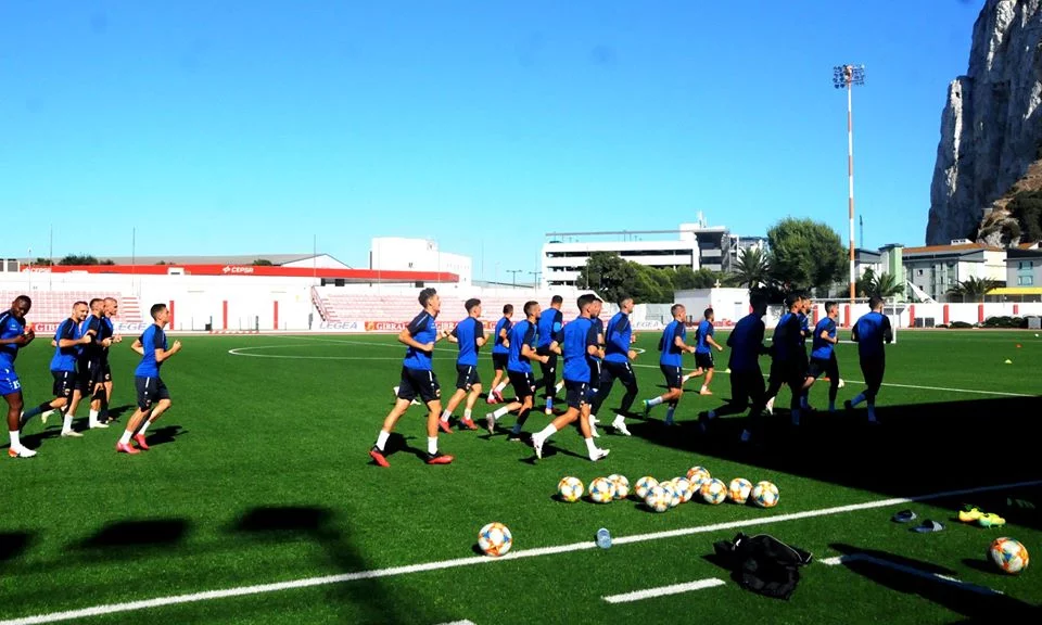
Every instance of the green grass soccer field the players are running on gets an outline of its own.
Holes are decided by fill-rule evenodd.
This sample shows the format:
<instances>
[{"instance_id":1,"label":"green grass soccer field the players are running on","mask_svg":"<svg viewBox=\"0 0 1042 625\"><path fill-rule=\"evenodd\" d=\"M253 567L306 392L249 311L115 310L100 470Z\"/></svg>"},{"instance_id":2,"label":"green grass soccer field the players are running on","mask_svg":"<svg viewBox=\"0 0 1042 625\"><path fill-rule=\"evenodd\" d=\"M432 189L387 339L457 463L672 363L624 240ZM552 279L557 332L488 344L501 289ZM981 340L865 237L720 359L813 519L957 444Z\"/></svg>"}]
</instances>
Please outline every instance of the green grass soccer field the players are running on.
<instances>
[{"instance_id":1,"label":"green grass soccer field the players are running on","mask_svg":"<svg viewBox=\"0 0 1042 625\"><path fill-rule=\"evenodd\" d=\"M662 392L656 337L641 337L641 397ZM84 623L147 617L168 623L953 623L988 620L1042 604L1040 572L997 573L984 560L990 541L1012 536L1042 558L1042 486L929 496L1042 480L1039 441L1042 339L1027 332L902 331L889 349L877 428L864 412L818 412L802 428L779 410L764 446L738 443L741 418L707 435L699 411L729 395L717 375L715 395L698 382L662 425L664 408L631 421L632 438L602 431L611 456L585 457L572 430L552 439L554 454L533 462L531 447L484 430L442 435L445 467L428 467L424 414L414 407L391 447L391 469L369 461L392 404L403 349L391 336L185 337L164 367L171 410L150 430L152 450L117 455L115 442L132 412L136 356L113 356L119 424L81 439L58 437L60 424L34 420L23 441L29 460L4 457L0 512L0 623L63 611L188 596L185 602L137 604L127 611L74 612ZM1018 344L1020 346L1018 346ZM236 353L231 353L236 350ZM50 348L38 342L18 358L26 404L47 399ZM726 353L719 357L720 362ZM1011 359L1012 365L1004 360ZM435 368L445 390L455 381L454 346L440 346ZM839 347L847 386L863 386L851 345ZM481 375L492 379L483 356ZM890 385L895 384L895 385ZM900 385L900 386L897 386ZM622 388L606 407L618 406ZM824 407L825 385L812 403ZM783 392L778 406L787 406ZM461 410L460 410L461 411ZM475 417L487 407L482 400ZM459 411L458 411L459 412ZM458 413L457 412L457 413ZM86 425L86 406L80 407ZM611 414L601 411L602 421ZM513 417L500 422L509 428ZM526 430L542 429L533 414ZM695 464L725 482L770 480L777 508L684 503L663 514L636 501L563 503L557 482L585 483L622 473L670 479ZM1024 508L1015 500L1038 508ZM1001 530L962 525L954 511L977 503L1008 520ZM849 511L834 507L866 503ZM890 522L912 508L945 531L912 533ZM796 513L806 513L789 518ZM475 553L478 530L499 521L513 533L504 559ZM747 526L734 523L748 521ZM721 526L723 524L723 526ZM730 525L727 525L730 524ZM593 547L598 527L618 541ZM676 535L656 535L682 531ZM742 590L710 556L715 540L737 532L770 533L815 554L790 601ZM544 548L560 547L546 550ZM1001 591L981 595L872 563L818 562L868 553L912 569L950 575ZM410 567L418 564L429 566ZM1038 564L1035 565L1038 566ZM370 572L346 578L319 579ZM609 603L605 596L720 578L723 586ZM196 595L255 585L241 596ZM255 590L255 591L254 591ZM1032 608L1034 610L1034 608ZM40 618L29 622L49 622Z\"/></svg>"}]
</instances>

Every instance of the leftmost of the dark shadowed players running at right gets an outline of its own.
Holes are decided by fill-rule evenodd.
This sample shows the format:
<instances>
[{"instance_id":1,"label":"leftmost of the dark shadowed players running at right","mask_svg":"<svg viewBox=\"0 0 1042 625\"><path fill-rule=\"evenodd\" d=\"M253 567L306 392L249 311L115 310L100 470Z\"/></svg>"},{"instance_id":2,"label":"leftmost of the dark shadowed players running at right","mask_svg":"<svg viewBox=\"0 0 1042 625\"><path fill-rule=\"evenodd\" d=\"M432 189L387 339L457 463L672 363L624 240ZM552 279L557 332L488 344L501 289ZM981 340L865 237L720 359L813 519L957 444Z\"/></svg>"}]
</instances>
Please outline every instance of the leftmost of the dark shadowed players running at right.
<instances>
[{"instance_id":1,"label":"leftmost of the dark shadowed players running at right","mask_svg":"<svg viewBox=\"0 0 1042 625\"><path fill-rule=\"evenodd\" d=\"M739 319L727 337L727 346L730 347L730 359L727 362L730 368L730 401L699 414L702 430L717 417L745 412L750 400L752 409L749 413L754 419L763 411L766 397L763 372L760 370L760 355L766 353L763 346L763 316L767 312L767 301L762 296L753 296L750 306L752 312ZM751 435L751 431L746 429L741 433L741 439L749 441Z\"/></svg>"}]
</instances>

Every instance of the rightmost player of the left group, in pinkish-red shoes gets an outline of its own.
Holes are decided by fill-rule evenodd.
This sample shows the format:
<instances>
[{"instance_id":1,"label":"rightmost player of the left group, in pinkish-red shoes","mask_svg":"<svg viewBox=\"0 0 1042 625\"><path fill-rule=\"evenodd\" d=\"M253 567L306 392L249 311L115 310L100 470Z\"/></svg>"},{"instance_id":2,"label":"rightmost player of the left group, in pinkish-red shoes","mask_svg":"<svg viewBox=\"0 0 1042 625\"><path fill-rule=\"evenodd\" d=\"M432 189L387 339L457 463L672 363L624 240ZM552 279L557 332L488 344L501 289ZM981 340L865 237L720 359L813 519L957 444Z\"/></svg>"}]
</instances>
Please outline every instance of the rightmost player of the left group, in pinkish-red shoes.
<instances>
[{"instance_id":1,"label":"rightmost player of the left group, in pinkish-red shoes","mask_svg":"<svg viewBox=\"0 0 1042 625\"><path fill-rule=\"evenodd\" d=\"M160 368L171 356L181 350L181 342L175 341L174 345L167 346L166 328L170 319L170 311L166 304L153 304L149 309L152 316L152 324L141 333L131 349L141 355L141 362L134 370L134 385L138 393L138 408L127 421L127 429L123 436L116 443L117 454L140 454L141 450L148 451L149 445L145 442L144 433L149 425L155 423L155 420L163 416L170 408L170 392L160 377ZM145 420L145 417L148 419ZM130 445L130 438L138 444L137 447Z\"/></svg>"}]
</instances>

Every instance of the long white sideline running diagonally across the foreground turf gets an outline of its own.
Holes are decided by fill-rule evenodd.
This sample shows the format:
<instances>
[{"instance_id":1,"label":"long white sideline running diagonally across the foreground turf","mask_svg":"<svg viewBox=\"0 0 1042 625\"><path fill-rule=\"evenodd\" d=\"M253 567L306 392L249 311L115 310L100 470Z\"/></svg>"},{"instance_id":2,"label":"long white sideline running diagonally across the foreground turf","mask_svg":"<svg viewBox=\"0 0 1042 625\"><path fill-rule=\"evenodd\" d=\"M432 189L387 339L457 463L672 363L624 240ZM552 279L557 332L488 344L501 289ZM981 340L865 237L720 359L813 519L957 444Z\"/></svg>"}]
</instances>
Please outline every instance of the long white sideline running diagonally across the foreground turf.
<instances>
[{"instance_id":1,"label":"long white sideline running diagonally across the foreground turf","mask_svg":"<svg viewBox=\"0 0 1042 625\"><path fill-rule=\"evenodd\" d=\"M916 497L898 497L893 499L878 499L876 501L865 501L863 503L851 503L848 506L837 506L834 508L821 508L817 510L805 510L803 512L791 512L789 514L777 514L774 516L763 516L755 519L746 519L742 521L732 521L727 523L716 523L713 525L700 525L696 527L685 527L681 530L669 530L665 532L652 532L649 534L635 534L633 536L622 536L613 540L615 545L626 545L630 543L644 543L647 540L660 540L663 538L675 538L677 536L690 536L694 534L704 534L709 532L721 532L723 530L734 530L737 527L749 527L752 525L770 525L773 523L783 523L786 521L798 521L800 519L811 519L815 516L829 516L831 514L842 514L846 512L856 512L861 510L872 510L875 508L887 508L900 506L914 501L929 501L931 499L943 499L948 497L962 497L976 493L987 493L991 490L1005 490L1008 488L1022 488L1027 486L1042 485L1042 480L1031 482L1017 482L1014 484L1000 484L995 486L979 486L976 488L964 488L961 490L948 490L943 493L932 493L930 495L919 495ZM227 599L230 597L244 597L249 595L262 595L266 592L277 592L280 590L291 590L295 588L309 588L314 586L328 586L330 584L343 584L358 579L376 579L380 577L395 577L398 575L411 575L414 573L424 573L428 571L441 571L445 569L456 569L459 566L471 566L474 564L488 564L505 560L519 560L522 558L539 558L543 556L554 556L557 553L571 553L573 551L585 551L596 549L597 544L593 540L584 543L572 543L571 545L557 545L554 547L537 547L534 549L521 549L511 551L499 558L488 558L487 556L473 556L470 558L457 558L453 560L442 560L437 562L425 562L422 564L408 564L405 566L392 566L390 569L374 569L371 571L357 571L354 573L343 573L340 575L326 575L322 577L306 577L303 579L292 579L289 582L277 582L274 584L259 584L256 586L239 586L226 588L223 590L207 590L203 592L191 592L188 595L175 595L173 597L157 597L155 599L145 599L141 601L129 601L126 603L110 603L106 605L94 605L93 608L84 608L80 610L68 610L64 612L51 612L49 614L38 614L36 616L24 616L20 618L10 618L0 621L0 625L35 625L38 623L59 623L62 621L74 621L77 618L87 618L89 616L102 616L105 614L117 614L120 612L134 612L145 610L148 608L160 608L163 605L177 605L180 603L196 603L200 601L212 601L215 599ZM7 604L5 604L7 607Z\"/></svg>"}]
</instances>

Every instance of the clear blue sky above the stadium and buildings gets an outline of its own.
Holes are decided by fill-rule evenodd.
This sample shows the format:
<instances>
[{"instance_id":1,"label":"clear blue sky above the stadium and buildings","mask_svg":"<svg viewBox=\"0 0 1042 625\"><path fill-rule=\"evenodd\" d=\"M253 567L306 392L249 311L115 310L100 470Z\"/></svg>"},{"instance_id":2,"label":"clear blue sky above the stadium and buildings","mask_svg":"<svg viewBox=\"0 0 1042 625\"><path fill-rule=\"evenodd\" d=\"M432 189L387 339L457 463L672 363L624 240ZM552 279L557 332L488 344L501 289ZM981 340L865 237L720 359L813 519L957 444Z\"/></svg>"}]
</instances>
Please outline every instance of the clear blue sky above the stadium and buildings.
<instances>
[{"instance_id":1,"label":"clear blue sky above the stadium and buildings","mask_svg":"<svg viewBox=\"0 0 1042 625\"><path fill-rule=\"evenodd\" d=\"M548 231L699 211L922 244L982 2L7 0L4 257L321 251L432 237L475 277ZM500 276L505 279L505 276Z\"/></svg>"}]
</instances>

